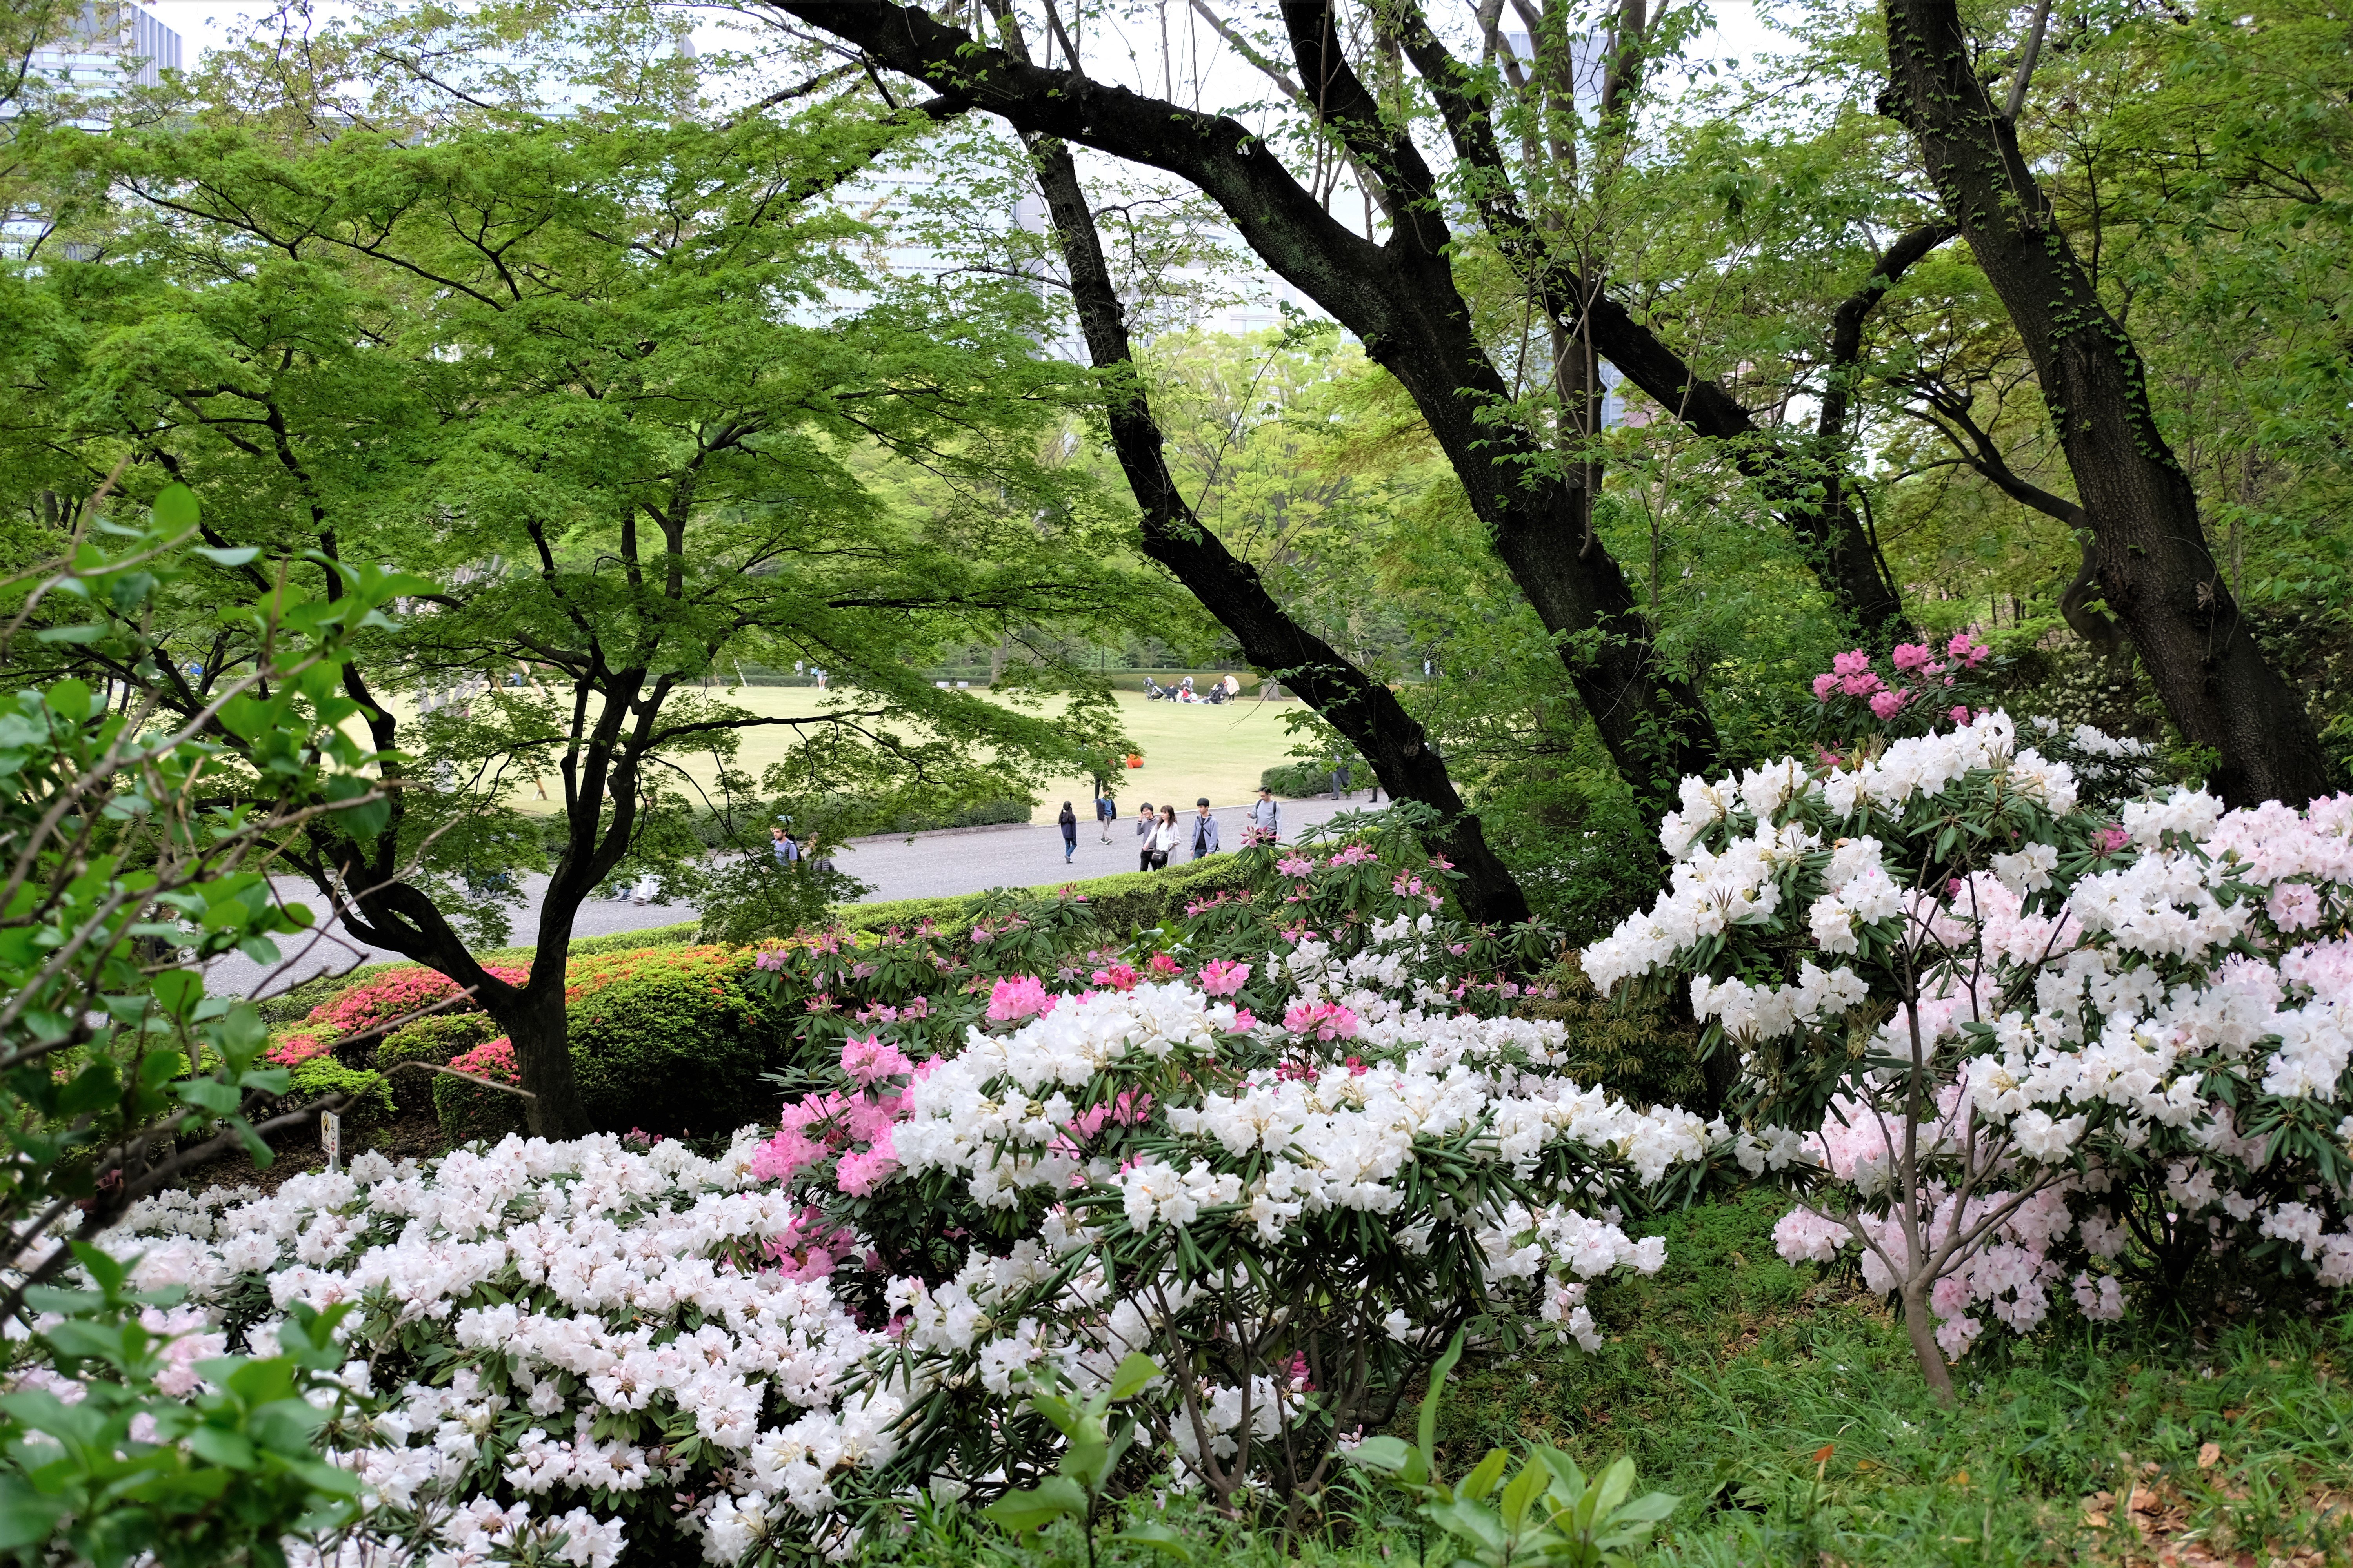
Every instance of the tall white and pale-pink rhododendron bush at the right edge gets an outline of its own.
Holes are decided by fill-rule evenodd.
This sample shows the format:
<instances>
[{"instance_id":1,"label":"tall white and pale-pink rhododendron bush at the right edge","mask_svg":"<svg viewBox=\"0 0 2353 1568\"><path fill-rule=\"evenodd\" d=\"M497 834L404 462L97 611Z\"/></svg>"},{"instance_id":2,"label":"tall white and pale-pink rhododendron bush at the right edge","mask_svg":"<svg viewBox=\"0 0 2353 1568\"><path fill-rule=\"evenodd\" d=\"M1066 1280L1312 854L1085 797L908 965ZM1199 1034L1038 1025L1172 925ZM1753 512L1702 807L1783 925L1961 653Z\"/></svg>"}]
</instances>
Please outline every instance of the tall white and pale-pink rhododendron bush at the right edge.
<instances>
[{"instance_id":1,"label":"tall white and pale-pink rhododendron bush at the right edge","mask_svg":"<svg viewBox=\"0 0 2353 1568\"><path fill-rule=\"evenodd\" d=\"M1781 1253L1857 1248L1951 1389L1991 1324L2202 1265L2353 1281L2348 830L2346 797L2094 811L1991 712L1687 778L1673 886L1584 966L1687 980L1741 1053L1744 1164L1807 1192Z\"/></svg>"}]
</instances>

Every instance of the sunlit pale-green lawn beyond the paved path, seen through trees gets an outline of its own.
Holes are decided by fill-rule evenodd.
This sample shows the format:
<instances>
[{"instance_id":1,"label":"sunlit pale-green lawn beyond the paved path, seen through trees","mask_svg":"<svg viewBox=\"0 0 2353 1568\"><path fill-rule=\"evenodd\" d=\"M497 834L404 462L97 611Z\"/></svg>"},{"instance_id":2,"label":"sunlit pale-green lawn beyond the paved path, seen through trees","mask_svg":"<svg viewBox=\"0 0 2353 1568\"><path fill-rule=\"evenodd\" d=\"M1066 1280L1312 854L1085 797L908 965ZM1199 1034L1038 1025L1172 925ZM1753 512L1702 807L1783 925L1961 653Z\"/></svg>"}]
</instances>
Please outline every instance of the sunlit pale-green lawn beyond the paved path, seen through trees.
<instances>
[{"instance_id":1,"label":"sunlit pale-green lawn beyond the paved path, seen through trees","mask_svg":"<svg viewBox=\"0 0 2353 1568\"><path fill-rule=\"evenodd\" d=\"M856 705L856 693L816 693L809 686L739 686L713 691L762 717L802 717L824 712L828 698ZM986 698L986 691L974 696ZM1259 773L1278 762L1289 762L1292 736L1282 729L1282 715L1299 712L1294 698L1271 703L1257 701L1254 684L1242 689L1242 698L1212 708L1207 703L1151 703L1141 691L1115 693L1127 738L1144 757L1141 769L1122 769L1113 785L1120 816L1134 816L1144 802L1191 806L1202 795L1214 806L1235 806L1254 799ZM409 705L400 703L400 715L409 717ZM793 745L788 729L741 731L744 750L736 766L758 778L772 762L781 762ZM696 783L711 785L713 766L708 757L675 759ZM1061 802L1073 802L1082 818L1089 818L1087 778L1066 776L1047 780L1033 820L1049 823L1061 811ZM548 811L529 785L513 792L513 802L525 811Z\"/></svg>"}]
</instances>

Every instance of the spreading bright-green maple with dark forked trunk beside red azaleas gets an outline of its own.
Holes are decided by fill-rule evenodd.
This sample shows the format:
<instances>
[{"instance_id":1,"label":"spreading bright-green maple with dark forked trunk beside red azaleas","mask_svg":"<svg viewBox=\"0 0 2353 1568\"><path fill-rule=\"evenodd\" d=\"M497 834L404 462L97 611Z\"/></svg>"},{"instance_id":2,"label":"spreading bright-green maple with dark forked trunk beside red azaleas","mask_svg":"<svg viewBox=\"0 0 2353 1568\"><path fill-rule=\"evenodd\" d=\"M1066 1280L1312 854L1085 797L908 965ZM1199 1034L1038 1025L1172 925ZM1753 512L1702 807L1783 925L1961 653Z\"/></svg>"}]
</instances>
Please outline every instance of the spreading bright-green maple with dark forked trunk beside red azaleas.
<instances>
[{"instance_id":1,"label":"spreading bright-green maple with dark forked trunk beside red azaleas","mask_svg":"<svg viewBox=\"0 0 2353 1568\"><path fill-rule=\"evenodd\" d=\"M534 1133L586 1131L562 994L581 900L614 872L704 886L696 818L765 863L746 733L805 741L769 792L866 785L882 809L1019 795L1115 738L1108 698L1054 658L1016 701L925 677L944 644L1118 625L1134 595L1085 475L1040 461L1082 388L1035 357L1031 294L852 266L864 230L826 193L901 134L586 115L47 150L61 188L132 200L106 261L7 284L42 329L0 416L19 473L68 489L129 456L252 498L207 538L261 555L181 604L162 691L181 712L254 658L200 599L264 595L278 562L431 578L341 670L384 830L306 825L285 863L353 936L475 990ZM755 710L722 691L753 661L826 665L835 689ZM504 933L529 870L539 961L508 985L468 938Z\"/></svg>"}]
</instances>

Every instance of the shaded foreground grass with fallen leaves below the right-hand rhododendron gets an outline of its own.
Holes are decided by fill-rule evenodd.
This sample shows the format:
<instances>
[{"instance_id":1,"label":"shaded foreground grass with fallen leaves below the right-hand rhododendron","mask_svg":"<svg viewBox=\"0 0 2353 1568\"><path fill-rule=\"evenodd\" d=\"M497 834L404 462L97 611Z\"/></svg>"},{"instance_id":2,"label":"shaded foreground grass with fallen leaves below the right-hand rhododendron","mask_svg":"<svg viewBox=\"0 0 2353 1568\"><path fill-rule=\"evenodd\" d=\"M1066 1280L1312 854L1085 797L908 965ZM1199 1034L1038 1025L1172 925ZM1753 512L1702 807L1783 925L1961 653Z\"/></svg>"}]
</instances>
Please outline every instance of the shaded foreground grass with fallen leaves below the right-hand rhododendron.
<instances>
[{"instance_id":1,"label":"shaded foreground grass with fallen leaves below the right-hand rhododendron","mask_svg":"<svg viewBox=\"0 0 2353 1568\"><path fill-rule=\"evenodd\" d=\"M1944 1410L1878 1298L1774 1255L1784 1208L1755 1194L1645 1227L1668 1237L1666 1269L1595 1286L1595 1354L1473 1356L1440 1420L1447 1476L1529 1439L1588 1474L1631 1455L1638 1493L1680 1497L1640 1559L1659 1566L2353 1561L2353 1319L2092 1326L2061 1286L2038 1335L1988 1328ZM1362 1509L1341 1488L1332 1505ZM1195 1563L1461 1561L1445 1537L1421 1540L1393 1495L1369 1509L1386 1523L1334 1523L1287 1552L1179 1497L1146 1493L1132 1509L1184 1530ZM1099 1552L1101 1568L1169 1561ZM1085 1552L1071 1526L1014 1547L960 1523L868 1559L1075 1568Z\"/></svg>"}]
</instances>

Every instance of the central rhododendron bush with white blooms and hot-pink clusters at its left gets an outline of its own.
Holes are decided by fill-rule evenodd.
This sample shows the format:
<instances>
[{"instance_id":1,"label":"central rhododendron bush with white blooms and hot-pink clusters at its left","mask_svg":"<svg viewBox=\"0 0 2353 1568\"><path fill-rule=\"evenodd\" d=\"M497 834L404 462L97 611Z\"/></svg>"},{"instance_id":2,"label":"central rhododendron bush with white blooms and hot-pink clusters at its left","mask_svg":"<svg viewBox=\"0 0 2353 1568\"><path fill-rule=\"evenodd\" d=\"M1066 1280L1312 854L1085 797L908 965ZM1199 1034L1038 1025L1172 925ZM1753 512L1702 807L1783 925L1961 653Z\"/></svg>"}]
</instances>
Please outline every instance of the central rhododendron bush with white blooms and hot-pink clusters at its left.
<instances>
[{"instance_id":1,"label":"central rhododendron bush with white blooms and hot-pink clusters at its left","mask_svg":"<svg viewBox=\"0 0 2353 1568\"><path fill-rule=\"evenodd\" d=\"M1294 961L1320 957L1275 959ZM788 1246L824 1251L835 1291L880 1295L894 1326L896 1486L1035 1476L1054 1436L1014 1410L1016 1385L1052 1368L1096 1389L1144 1352L1165 1378L1134 1410L1181 1483L1224 1505L1313 1493L1337 1441L1471 1316L1598 1345L1588 1281L1664 1260L1612 1199L1713 1143L1697 1117L1553 1074L1558 1025L1362 985L1297 1027L1181 980L1012 980L993 1009L993 1032L920 1065L852 1041L861 1081L788 1112L753 1166L807 1199ZM894 1194L958 1215L960 1267L887 1267L920 1244L866 1229Z\"/></svg>"}]
</instances>

